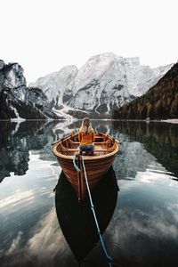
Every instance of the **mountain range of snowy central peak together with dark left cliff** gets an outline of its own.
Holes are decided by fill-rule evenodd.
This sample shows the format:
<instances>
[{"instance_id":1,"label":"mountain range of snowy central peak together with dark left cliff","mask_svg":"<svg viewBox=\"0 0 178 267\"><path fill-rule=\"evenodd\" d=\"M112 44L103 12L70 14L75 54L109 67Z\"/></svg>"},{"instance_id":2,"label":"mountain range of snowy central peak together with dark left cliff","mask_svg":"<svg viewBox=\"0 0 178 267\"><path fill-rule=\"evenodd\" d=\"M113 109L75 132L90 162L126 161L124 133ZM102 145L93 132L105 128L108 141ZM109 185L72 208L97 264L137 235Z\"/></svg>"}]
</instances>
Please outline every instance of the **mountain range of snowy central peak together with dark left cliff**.
<instances>
[{"instance_id":1,"label":"mountain range of snowy central peak together with dark left cliff","mask_svg":"<svg viewBox=\"0 0 178 267\"><path fill-rule=\"evenodd\" d=\"M81 69L66 66L27 86L18 63L0 61L0 119L109 118L115 109L149 90L172 66L150 69L138 57L102 53Z\"/></svg>"}]
</instances>

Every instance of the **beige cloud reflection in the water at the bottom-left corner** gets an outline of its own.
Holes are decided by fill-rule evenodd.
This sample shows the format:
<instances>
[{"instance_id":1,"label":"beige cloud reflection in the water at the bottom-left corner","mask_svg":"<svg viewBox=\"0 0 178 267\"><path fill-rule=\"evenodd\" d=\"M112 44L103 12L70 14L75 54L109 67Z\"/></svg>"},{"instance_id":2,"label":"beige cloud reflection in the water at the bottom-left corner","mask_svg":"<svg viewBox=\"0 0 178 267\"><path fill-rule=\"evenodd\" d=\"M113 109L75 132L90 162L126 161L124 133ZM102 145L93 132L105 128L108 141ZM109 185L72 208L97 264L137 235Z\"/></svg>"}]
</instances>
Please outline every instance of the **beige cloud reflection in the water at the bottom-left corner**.
<instances>
[{"instance_id":1,"label":"beige cloud reflection in the water at the bottom-left corner","mask_svg":"<svg viewBox=\"0 0 178 267\"><path fill-rule=\"evenodd\" d=\"M24 266L28 263L34 266L49 265L55 258L65 261L72 255L63 238L54 207L36 223L26 240L27 236L27 233L19 231L9 248L0 250L0 255L4 255L1 266Z\"/></svg>"}]
</instances>

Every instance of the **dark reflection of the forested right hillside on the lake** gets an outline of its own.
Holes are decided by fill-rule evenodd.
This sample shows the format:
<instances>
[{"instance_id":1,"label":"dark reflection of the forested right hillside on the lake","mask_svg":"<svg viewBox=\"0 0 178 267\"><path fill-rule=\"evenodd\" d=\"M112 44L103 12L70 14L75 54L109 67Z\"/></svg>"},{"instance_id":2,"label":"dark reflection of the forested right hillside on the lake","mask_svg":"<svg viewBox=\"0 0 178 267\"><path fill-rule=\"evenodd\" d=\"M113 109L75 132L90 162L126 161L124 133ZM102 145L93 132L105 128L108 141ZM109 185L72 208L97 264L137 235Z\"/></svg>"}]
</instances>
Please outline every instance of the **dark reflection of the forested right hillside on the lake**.
<instances>
[{"instance_id":1,"label":"dark reflection of the forested right hillside on the lake","mask_svg":"<svg viewBox=\"0 0 178 267\"><path fill-rule=\"evenodd\" d=\"M113 121L112 126L113 132L123 134L125 141L142 143L144 149L157 158L167 171L178 176L178 125ZM141 158L142 155L138 157Z\"/></svg>"}]
</instances>

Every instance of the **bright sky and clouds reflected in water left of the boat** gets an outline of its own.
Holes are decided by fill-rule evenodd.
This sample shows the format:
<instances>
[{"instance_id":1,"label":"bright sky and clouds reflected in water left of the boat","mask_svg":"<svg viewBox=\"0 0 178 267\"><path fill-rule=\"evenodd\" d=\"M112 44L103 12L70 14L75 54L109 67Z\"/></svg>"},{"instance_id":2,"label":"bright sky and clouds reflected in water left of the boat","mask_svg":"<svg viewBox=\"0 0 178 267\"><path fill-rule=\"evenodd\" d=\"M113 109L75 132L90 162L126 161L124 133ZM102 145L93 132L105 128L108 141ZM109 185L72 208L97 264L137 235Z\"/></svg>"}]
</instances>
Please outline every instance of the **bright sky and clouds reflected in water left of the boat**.
<instances>
[{"instance_id":1,"label":"bright sky and clouds reflected in water left of the boat","mask_svg":"<svg viewBox=\"0 0 178 267\"><path fill-rule=\"evenodd\" d=\"M59 250L62 234L53 207L59 167L30 152L28 168L27 174L11 174L0 186L1 267L44 266Z\"/></svg>"}]
</instances>

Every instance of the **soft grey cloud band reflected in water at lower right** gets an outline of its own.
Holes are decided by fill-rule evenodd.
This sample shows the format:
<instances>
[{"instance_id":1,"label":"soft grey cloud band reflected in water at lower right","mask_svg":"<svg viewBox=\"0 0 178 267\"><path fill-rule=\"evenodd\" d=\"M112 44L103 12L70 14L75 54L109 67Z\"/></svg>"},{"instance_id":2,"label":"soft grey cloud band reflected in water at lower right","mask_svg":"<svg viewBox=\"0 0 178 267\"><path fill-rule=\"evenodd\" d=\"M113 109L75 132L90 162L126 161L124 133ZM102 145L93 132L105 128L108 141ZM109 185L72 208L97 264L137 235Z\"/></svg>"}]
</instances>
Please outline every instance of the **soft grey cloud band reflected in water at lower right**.
<instances>
[{"instance_id":1,"label":"soft grey cloud band reflected in water at lower right","mask_svg":"<svg viewBox=\"0 0 178 267\"><path fill-rule=\"evenodd\" d=\"M110 243L120 244L128 249L131 242L135 242L136 247L138 243L147 244L149 239L152 240L152 246L167 239L176 242L177 222L178 205L164 206L164 209L154 207L150 212L140 209L118 209L108 229L109 238L112 239Z\"/></svg>"}]
</instances>

